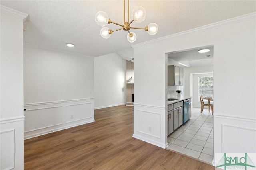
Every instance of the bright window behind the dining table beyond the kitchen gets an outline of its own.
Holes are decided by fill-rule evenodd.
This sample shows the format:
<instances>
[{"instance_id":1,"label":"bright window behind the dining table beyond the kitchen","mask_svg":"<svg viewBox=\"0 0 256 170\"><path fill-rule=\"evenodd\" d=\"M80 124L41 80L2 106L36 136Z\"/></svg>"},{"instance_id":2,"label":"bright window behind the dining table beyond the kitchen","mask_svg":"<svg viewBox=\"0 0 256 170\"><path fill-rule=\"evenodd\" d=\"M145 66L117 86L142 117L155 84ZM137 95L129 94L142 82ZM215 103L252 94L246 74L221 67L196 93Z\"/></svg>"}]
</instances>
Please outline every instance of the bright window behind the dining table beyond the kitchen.
<instances>
[{"instance_id":1,"label":"bright window behind the dining table beyond the kitchen","mask_svg":"<svg viewBox=\"0 0 256 170\"><path fill-rule=\"evenodd\" d=\"M213 77L199 77L199 95L213 97Z\"/></svg>"}]
</instances>

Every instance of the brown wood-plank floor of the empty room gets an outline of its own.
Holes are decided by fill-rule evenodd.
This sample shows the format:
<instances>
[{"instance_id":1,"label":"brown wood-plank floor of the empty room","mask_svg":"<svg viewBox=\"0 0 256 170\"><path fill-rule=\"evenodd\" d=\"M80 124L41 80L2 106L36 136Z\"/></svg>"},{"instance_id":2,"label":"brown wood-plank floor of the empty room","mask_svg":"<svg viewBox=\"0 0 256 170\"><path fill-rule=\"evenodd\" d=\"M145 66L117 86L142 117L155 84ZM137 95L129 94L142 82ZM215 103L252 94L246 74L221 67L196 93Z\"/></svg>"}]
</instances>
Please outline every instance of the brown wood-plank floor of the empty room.
<instances>
[{"instance_id":1,"label":"brown wood-plank floor of the empty room","mask_svg":"<svg viewBox=\"0 0 256 170\"><path fill-rule=\"evenodd\" d=\"M214 170L132 137L133 106L95 110L95 122L24 141L25 170Z\"/></svg>"}]
</instances>

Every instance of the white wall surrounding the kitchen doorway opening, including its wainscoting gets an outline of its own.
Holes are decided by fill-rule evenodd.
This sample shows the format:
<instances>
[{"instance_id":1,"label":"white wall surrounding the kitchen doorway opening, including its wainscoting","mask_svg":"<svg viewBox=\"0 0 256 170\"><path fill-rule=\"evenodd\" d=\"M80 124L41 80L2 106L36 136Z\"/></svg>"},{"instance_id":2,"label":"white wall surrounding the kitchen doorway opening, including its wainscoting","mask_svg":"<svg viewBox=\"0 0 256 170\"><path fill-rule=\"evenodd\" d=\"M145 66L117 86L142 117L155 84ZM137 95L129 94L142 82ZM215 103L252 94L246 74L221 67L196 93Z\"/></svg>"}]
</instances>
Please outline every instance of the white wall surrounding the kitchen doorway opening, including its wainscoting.
<instances>
[{"instance_id":1,"label":"white wall surrounding the kitchen doorway opening, including its wainscoting","mask_svg":"<svg viewBox=\"0 0 256 170\"><path fill-rule=\"evenodd\" d=\"M214 45L214 153L256 152L255 18L248 14L134 45L133 136L166 145L165 53Z\"/></svg>"}]
</instances>

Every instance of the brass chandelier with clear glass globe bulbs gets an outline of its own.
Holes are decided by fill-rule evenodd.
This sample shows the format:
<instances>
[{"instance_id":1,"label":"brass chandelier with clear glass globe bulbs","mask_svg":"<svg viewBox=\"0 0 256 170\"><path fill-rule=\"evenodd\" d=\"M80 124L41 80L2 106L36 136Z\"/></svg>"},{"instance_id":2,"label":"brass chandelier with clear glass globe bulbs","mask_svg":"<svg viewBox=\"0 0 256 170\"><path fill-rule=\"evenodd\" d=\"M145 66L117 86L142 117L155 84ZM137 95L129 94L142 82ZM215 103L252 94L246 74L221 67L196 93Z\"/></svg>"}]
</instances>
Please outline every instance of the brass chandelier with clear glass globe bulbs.
<instances>
[{"instance_id":1,"label":"brass chandelier with clear glass globe bulbs","mask_svg":"<svg viewBox=\"0 0 256 170\"><path fill-rule=\"evenodd\" d=\"M103 28L100 30L100 35L107 39L110 37L110 35L114 32L114 31L119 31L119 30L124 30L124 31L128 31L128 35L127 35L127 40L131 43L133 43L134 41L136 41L136 34L134 32L130 32L130 29L144 29L145 31L148 32L149 35L155 35L157 33L158 30L158 26L156 25L156 23L150 23L148 26L144 27L144 28L140 28L140 27L131 27L130 24L135 21L137 23L140 23L142 21L145 20L146 18L146 11L143 7L141 6L136 6L134 8L134 10L132 11L132 21L129 22L129 0L127 2L127 21L125 21L125 0L124 0L124 24L119 24L119 23L115 23L113 21L110 20L110 18L108 18L108 14L106 14L106 12L103 11L99 11L96 13L95 16L95 21L98 25L102 26ZM111 30L108 27L104 27L107 24L113 23L115 25L119 25L121 26L121 28L119 29L115 29L115 30Z\"/></svg>"}]
</instances>

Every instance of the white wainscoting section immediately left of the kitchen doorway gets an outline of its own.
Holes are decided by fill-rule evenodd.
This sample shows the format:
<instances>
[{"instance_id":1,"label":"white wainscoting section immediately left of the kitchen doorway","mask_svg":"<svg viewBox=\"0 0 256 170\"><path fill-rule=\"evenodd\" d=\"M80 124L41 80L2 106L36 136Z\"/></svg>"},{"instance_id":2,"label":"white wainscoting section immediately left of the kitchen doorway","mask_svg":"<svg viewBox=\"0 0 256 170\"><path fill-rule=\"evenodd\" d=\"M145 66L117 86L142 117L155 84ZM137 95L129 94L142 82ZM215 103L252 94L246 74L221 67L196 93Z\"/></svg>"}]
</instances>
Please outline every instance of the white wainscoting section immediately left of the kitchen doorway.
<instances>
[{"instance_id":1,"label":"white wainscoting section immediately left of the kitchen doorway","mask_svg":"<svg viewBox=\"0 0 256 170\"><path fill-rule=\"evenodd\" d=\"M134 104L133 137L165 148L165 107Z\"/></svg>"}]
</instances>

